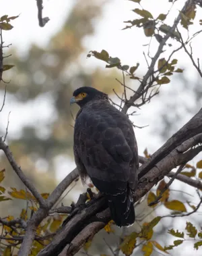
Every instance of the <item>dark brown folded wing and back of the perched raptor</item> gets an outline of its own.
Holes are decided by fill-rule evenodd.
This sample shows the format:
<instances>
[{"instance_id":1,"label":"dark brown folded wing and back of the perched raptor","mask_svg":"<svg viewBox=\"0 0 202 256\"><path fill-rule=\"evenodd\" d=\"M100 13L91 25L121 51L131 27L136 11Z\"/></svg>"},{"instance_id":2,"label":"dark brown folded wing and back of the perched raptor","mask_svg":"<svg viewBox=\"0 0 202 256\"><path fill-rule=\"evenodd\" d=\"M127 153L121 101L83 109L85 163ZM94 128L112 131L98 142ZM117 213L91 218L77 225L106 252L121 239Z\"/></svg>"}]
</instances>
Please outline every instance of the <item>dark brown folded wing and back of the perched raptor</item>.
<instances>
[{"instance_id":1,"label":"dark brown folded wing and back of the perched raptor","mask_svg":"<svg viewBox=\"0 0 202 256\"><path fill-rule=\"evenodd\" d=\"M132 172L133 151L118 119L117 115L112 118L106 111L96 113L92 109L90 113L82 111L75 123L74 145L79 161L95 186L110 195L126 189Z\"/></svg>"}]
</instances>

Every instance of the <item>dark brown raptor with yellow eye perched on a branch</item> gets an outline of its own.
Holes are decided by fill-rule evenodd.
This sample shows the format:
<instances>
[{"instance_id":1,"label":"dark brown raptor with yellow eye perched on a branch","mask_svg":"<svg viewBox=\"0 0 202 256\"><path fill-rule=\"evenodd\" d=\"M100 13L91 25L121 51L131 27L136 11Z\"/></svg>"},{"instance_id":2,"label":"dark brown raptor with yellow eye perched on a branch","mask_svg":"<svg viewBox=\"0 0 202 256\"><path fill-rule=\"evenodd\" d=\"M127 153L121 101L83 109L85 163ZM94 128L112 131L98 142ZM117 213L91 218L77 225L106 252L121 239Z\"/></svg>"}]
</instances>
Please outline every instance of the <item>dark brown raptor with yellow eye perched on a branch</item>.
<instances>
[{"instance_id":1,"label":"dark brown raptor with yellow eye perched on a branch","mask_svg":"<svg viewBox=\"0 0 202 256\"><path fill-rule=\"evenodd\" d=\"M117 226L130 226L135 222L133 195L139 167L133 125L110 104L108 95L95 88L78 88L70 103L80 107L73 151L81 180L89 176L104 194Z\"/></svg>"}]
</instances>

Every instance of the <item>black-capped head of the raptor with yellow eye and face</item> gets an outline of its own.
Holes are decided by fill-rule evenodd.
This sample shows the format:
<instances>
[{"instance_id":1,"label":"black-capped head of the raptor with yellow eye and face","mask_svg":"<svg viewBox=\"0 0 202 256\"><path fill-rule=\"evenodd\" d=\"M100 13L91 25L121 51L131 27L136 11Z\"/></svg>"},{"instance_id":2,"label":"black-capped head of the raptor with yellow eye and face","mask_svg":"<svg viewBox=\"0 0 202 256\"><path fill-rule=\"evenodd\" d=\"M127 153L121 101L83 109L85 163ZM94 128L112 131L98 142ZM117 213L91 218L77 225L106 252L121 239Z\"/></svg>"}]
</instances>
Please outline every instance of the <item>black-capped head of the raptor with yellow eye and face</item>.
<instances>
[{"instance_id":1,"label":"black-capped head of the raptor with yellow eye and face","mask_svg":"<svg viewBox=\"0 0 202 256\"><path fill-rule=\"evenodd\" d=\"M79 107L83 107L89 101L96 101L100 99L108 99L108 95L96 90L95 88L83 86L73 92L70 104L77 103Z\"/></svg>"}]
</instances>

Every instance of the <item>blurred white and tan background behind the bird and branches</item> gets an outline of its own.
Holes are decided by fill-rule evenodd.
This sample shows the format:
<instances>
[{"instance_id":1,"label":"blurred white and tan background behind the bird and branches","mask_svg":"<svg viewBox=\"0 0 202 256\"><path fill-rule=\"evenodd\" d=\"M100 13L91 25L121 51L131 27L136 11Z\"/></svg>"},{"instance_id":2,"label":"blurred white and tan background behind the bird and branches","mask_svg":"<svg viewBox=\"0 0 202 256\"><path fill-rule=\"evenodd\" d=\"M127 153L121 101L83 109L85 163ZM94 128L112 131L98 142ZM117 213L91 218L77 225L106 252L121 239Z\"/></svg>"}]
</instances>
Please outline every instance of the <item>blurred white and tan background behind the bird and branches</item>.
<instances>
[{"instance_id":1,"label":"blurred white and tan background behind the bird and branches","mask_svg":"<svg viewBox=\"0 0 202 256\"><path fill-rule=\"evenodd\" d=\"M166 0L156 0L155 6L148 0L142 3L154 17L160 13L166 13L171 6L171 3ZM184 1L178 0L174 5L168 24L169 22L172 24L183 3ZM5 59L5 63L14 64L15 67L3 73L3 79L10 82L7 85L5 106L0 113L0 134L4 136L7 118L11 112L7 143L16 161L38 190L50 193L75 167L73 117L78 108L73 105L70 109L69 106L69 99L75 88L93 86L108 93L117 103L119 99L112 89L115 89L119 95L123 91L119 82L115 80L115 78L122 79L121 72L116 68L105 69L104 62L92 57L87 58L88 52L105 49L112 57L119 57L122 64L135 66L139 62L137 76L143 76L147 71L143 51L147 53L150 38L145 37L142 29L122 30L125 27L124 21L135 18L131 9L135 9L137 5L132 1L46 0L43 5L43 17L48 16L50 21L44 28L40 28L36 1L7 0L1 3L1 16L20 14L20 17L13 20L12 30L3 31L5 44L12 44L9 49L5 49L7 54L12 54ZM197 17L200 16L200 11ZM199 26L191 27L191 32L192 30L196 32ZM180 32L187 36L184 28ZM170 41L173 47L177 45L174 40L170 39ZM151 55L156 53L157 47L158 43L153 40L150 47ZM201 52L200 35L193 42L193 49L196 57ZM166 52L163 57L167 55ZM149 153L154 153L201 107L202 86L197 72L183 51L178 51L174 57L178 59L178 67L184 68L183 74L174 75L170 84L164 84L160 89L160 95L152 99L151 103L144 105L141 109L133 109L137 111L137 115L131 118L134 124L147 126L135 128L139 155L143 155L145 148ZM128 86L137 88L136 80L127 79L126 81ZM2 82L0 89L0 99L3 101L5 84ZM2 153L0 156L0 168L6 170L4 185L24 189L24 185L11 170ZM194 165L196 161L191 164ZM173 199L185 202L188 197L193 203L198 200L194 196L195 190L180 182L174 182L172 189L175 190ZM65 203L75 201L83 190L86 188L77 182L71 193L65 197ZM191 196L184 195L182 190L187 190ZM3 202L5 207L0 210L1 216L18 215L24 207L23 203L18 199ZM139 210L137 207L137 213L138 211L148 215L150 210L143 203L139 206ZM156 213L152 212L151 219L158 213L166 214L168 211L162 206ZM142 215L139 219L142 219L142 222L147 220ZM182 218L180 220L165 218L158 225L156 240L162 245L168 245L172 238L166 234L166 230L173 226L182 230L186 220L189 218L183 220ZM191 217L191 220L200 226L197 217ZM111 255L102 236L116 246L120 234L121 231L117 228L115 234L100 232L89 254ZM190 255L193 252L191 243L187 242L183 245L184 247L187 251L183 250L183 255ZM172 255L181 255L180 251L180 248L175 249ZM137 255L142 253L137 252ZM199 252L195 251L195 255L199 255Z\"/></svg>"}]
</instances>

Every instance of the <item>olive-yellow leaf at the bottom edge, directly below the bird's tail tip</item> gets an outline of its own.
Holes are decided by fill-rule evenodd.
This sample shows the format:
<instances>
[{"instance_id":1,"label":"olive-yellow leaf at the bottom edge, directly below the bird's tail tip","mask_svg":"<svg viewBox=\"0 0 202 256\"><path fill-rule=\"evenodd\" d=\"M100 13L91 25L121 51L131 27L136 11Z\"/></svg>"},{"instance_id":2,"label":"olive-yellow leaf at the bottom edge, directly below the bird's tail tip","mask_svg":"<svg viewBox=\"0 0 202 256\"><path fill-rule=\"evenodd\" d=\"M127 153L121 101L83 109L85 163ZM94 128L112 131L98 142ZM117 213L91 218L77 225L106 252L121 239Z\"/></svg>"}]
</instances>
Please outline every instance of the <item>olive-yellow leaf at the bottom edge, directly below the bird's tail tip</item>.
<instances>
[{"instance_id":1,"label":"olive-yellow leaf at the bottom edge, directly below the bird's tail tip","mask_svg":"<svg viewBox=\"0 0 202 256\"><path fill-rule=\"evenodd\" d=\"M123 254L125 254L126 256L129 256L133 253L136 245L137 236L138 234L136 232L129 234L129 236L126 236L125 240L119 246Z\"/></svg>"}]
</instances>

